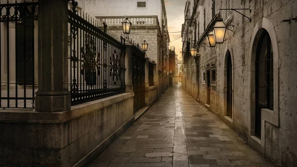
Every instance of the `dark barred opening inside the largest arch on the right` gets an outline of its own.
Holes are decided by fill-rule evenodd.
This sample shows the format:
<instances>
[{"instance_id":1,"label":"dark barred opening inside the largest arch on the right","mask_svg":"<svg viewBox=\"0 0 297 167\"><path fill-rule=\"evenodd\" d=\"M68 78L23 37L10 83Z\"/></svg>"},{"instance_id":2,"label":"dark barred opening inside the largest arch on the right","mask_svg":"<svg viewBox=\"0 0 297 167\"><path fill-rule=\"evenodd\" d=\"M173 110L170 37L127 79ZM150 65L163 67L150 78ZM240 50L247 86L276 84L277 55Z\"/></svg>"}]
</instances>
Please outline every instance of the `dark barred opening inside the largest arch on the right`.
<instances>
[{"instance_id":1,"label":"dark barred opening inside the largest arch on the right","mask_svg":"<svg viewBox=\"0 0 297 167\"><path fill-rule=\"evenodd\" d=\"M273 110L273 51L267 31L261 35L256 52L255 71L255 136L261 136L261 109Z\"/></svg>"}]
</instances>

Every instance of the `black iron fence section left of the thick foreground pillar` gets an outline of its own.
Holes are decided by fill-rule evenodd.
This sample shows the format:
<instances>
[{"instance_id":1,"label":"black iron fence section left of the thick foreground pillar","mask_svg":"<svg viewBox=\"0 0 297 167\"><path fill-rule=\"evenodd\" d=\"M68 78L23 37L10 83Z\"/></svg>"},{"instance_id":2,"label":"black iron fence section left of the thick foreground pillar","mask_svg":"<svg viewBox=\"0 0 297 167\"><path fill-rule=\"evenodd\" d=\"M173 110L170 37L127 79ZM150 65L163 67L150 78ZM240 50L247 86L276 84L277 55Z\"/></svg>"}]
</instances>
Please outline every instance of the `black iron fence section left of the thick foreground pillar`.
<instances>
[{"instance_id":1,"label":"black iron fence section left of the thick foreground pillar","mask_svg":"<svg viewBox=\"0 0 297 167\"><path fill-rule=\"evenodd\" d=\"M0 108L34 108L38 2L0 4Z\"/></svg>"}]
</instances>

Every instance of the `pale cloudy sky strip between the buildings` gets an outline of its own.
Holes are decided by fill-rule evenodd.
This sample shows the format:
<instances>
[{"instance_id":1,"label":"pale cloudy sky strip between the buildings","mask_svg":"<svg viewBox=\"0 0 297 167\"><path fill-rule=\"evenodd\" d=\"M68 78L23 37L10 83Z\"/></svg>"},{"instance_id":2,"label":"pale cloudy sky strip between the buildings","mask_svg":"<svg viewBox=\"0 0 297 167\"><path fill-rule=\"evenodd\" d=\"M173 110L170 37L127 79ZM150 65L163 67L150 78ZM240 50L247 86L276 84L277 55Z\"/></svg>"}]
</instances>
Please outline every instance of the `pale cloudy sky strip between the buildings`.
<instances>
[{"instance_id":1,"label":"pale cloudy sky strip between the buildings","mask_svg":"<svg viewBox=\"0 0 297 167\"><path fill-rule=\"evenodd\" d=\"M182 57L180 53L180 51L182 51L182 38L179 38L181 37L181 33L170 32L180 32L182 30L186 1L187 0L165 0L168 31L171 41L170 46L175 46L175 52L178 54L179 60L181 60ZM175 39L177 40L174 41Z\"/></svg>"}]
</instances>

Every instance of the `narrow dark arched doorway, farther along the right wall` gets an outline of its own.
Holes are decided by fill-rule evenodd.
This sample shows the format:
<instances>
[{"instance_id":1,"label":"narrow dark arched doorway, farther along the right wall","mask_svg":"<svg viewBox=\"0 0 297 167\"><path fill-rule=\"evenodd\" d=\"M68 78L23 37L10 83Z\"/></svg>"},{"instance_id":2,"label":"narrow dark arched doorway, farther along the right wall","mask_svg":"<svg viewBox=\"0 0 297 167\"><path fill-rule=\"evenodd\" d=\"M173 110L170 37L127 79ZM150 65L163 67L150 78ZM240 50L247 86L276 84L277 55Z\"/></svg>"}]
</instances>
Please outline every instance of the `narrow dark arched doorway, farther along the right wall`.
<instances>
[{"instance_id":1,"label":"narrow dark arched doorway, farther along the right wall","mask_svg":"<svg viewBox=\"0 0 297 167\"><path fill-rule=\"evenodd\" d=\"M232 119L232 61L230 52L227 59L227 116Z\"/></svg>"}]
</instances>

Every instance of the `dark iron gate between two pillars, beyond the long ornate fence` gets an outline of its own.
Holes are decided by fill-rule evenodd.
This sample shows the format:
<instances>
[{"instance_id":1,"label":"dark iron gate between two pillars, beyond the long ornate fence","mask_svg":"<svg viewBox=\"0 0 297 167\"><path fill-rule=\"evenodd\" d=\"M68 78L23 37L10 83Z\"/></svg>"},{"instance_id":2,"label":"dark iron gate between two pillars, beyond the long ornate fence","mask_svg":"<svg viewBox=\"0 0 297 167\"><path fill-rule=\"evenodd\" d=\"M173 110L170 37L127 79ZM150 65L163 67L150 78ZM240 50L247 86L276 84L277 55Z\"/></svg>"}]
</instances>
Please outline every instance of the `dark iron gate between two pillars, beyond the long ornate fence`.
<instances>
[{"instance_id":1,"label":"dark iron gate between two pillars, beyond the long ornate fence","mask_svg":"<svg viewBox=\"0 0 297 167\"><path fill-rule=\"evenodd\" d=\"M132 83L134 91L134 112L137 112L145 106L145 53L139 48L139 45L132 49Z\"/></svg>"}]
</instances>

